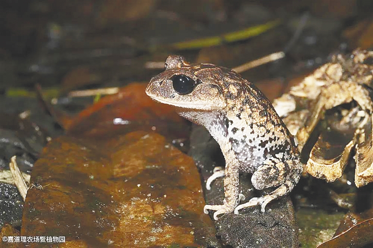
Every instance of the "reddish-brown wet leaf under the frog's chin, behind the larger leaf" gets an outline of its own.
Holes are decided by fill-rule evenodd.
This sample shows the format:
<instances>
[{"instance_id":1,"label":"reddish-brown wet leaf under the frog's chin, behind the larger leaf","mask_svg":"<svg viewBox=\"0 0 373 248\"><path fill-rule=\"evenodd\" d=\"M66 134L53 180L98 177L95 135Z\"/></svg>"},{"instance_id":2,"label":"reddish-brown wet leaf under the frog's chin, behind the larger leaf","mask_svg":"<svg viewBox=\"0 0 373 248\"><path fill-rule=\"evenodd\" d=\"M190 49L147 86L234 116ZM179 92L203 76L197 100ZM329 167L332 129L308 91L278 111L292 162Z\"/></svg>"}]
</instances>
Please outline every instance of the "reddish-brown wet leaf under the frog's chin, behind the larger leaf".
<instances>
[{"instance_id":1,"label":"reddish-brown wet leaf under the frog's chin, behind the larger leaf","mask_svg":"<svg viewBox=\"0 0 373 248\"><path fill-rule=\"evenodd\" d=\"M170 139L187 138L188 126L169 105L160 104L145 94L146 84L132 83L118 94L103 97L77 116L60 116L68 134L95 139L115 139L135 130L155 131Z\"/></svg>"}]
</instances>

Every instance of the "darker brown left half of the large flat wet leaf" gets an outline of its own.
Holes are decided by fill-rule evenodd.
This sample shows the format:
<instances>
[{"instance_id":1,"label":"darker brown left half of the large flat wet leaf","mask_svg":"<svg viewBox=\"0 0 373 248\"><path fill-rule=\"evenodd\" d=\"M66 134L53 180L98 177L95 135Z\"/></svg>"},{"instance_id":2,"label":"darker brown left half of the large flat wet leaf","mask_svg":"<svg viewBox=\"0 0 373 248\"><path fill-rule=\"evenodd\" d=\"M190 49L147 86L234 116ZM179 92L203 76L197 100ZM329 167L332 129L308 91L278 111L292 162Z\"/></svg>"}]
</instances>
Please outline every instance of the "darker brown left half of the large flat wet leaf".
<instances>
[{"instance_id":1,"label":"darker brown left half of the large flat wet leaf","mask_svg":"<svg viewBox=\"0 0 373 248\"><path fill-rule=\"evenodd\" d=\"M103 152L82 140L53 139L34 166L30 182L38 187L27 192L21 236L65 236L88 247L107 246L105 234L118 222L109 165Z\"/></svg>"}]
</instances>

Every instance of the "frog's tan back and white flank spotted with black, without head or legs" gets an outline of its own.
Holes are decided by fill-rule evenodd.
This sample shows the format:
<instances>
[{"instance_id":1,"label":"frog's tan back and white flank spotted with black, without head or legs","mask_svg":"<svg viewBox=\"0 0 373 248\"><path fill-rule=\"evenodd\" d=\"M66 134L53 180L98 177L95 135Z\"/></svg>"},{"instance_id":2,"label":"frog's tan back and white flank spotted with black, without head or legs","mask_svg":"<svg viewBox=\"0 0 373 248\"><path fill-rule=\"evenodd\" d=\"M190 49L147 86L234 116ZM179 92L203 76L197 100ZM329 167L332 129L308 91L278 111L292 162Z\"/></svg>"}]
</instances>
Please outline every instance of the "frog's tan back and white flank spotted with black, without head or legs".
<instances>
[{"instance_id":1,"label":"frog's tan back and white flank spotted with black, without head or legs","mask_svg":"<svg viewBox=\"0 0 373 248\"><path fill-rule=\"evenodd\" d=\"M253 83L222 68L227 139L240 171L254 172L270 158L298 156L294 140L271 102Z\"/></svg>"}]
</instances>

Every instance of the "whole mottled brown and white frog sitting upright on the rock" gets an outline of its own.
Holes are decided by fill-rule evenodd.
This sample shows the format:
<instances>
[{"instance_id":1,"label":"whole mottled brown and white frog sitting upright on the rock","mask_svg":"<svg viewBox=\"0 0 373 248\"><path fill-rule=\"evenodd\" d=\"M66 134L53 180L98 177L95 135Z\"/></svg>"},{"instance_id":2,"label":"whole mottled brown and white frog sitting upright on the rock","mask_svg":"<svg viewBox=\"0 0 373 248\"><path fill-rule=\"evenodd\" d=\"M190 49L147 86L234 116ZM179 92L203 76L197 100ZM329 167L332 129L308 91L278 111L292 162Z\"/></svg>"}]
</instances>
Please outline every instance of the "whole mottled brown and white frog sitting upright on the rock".
<instances>
[{"instance_id":1,"label":"whole mottled brown and white frog sitting upright on the rock","mask_svg":"<svg viewBox=\"0 0 373 248\"><path fill-rule=\"evenodd\" d=\"M219 144L225 169L214 169L206 189L224 177L224 200L220 205L206 204L203 209L205 214L215 211L215 220L256 205L264 213L268 203L288 195L298 183L303 164L294 137L270 100L235 71L213 64L191 64L183 56L170 55L165 70L150 80L146 94L204 126ZM241 203L245 197L239 193L240 173L252 174L255 189L273 190Z\"/></svg>"}]
</instances>

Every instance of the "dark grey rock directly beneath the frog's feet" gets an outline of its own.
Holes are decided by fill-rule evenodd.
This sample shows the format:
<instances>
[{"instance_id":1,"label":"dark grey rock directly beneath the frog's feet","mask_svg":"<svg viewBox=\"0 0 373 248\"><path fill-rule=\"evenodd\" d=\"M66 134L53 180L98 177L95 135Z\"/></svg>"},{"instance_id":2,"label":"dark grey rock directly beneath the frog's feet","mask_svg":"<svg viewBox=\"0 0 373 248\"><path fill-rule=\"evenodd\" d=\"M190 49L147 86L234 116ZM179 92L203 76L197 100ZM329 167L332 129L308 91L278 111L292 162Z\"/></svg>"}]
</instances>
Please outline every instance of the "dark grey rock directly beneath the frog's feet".
<instances>
[{"instance_id":1,"label":"dark grey rock directly beneath the frog's feet","mask_svg":"<svg viewBox=\"0 0 373 248\"><path fill-rule=\"evenodd\" d=\"M246 209L239 215L222 216L215 223L226 246L244 248L298 248L298 226L289 197L281 198L261 213Z\"/></svg>"}]
</instances>

